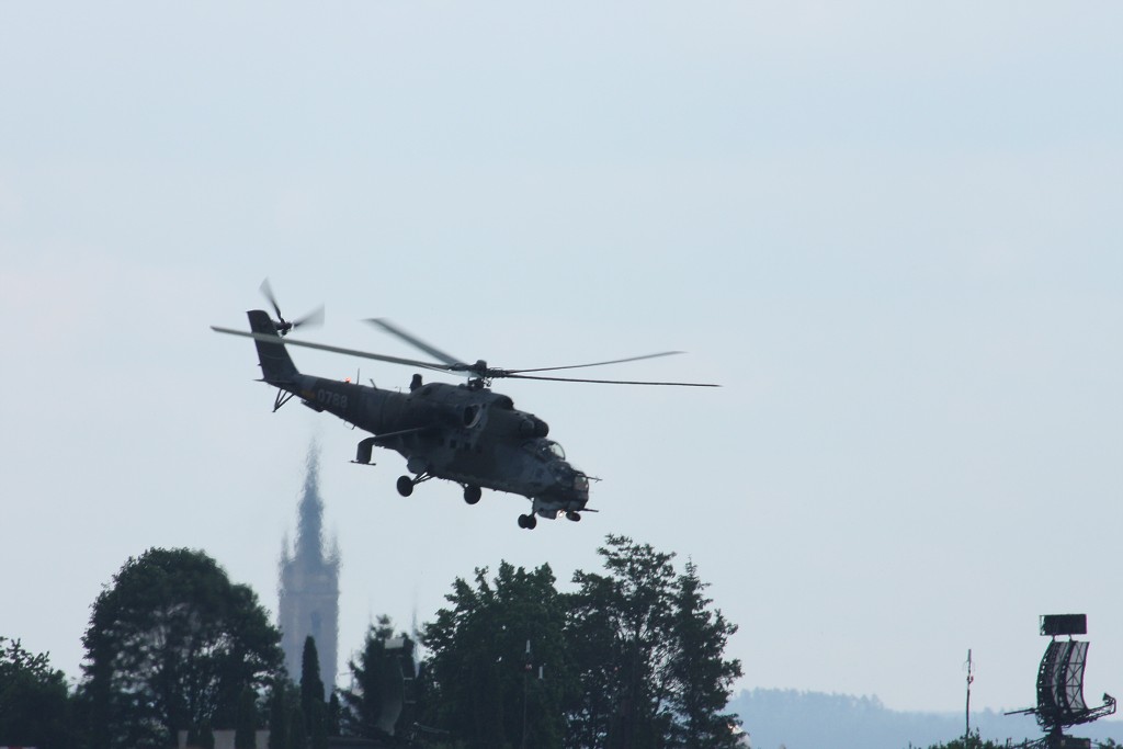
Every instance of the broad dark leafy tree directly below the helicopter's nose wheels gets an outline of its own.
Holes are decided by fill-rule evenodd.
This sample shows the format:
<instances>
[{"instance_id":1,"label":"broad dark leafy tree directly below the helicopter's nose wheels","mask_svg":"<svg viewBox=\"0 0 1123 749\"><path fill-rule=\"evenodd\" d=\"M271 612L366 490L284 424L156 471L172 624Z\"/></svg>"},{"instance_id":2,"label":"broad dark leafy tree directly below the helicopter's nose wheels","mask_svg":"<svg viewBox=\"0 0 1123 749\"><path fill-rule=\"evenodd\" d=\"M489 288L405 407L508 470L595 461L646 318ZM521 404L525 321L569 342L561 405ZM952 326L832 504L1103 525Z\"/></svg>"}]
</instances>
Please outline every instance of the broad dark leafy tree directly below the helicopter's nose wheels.
<instances>
[{"instance_id":1,"label":"broad dark leafy tree directly below the helicopter's nose wheels","mask_svg":"<svg viewBox=\"0 0 1123 749\"><path fill-rule=\"evenodd\" d=\"M554 583L548 565L527 572L505 561L492 581L477 569L474 585L454 583L446 596L451 608L438 611L422 636L431 655L421 722L473 748L521 746L524 727L526 746L562 746L573 679L563 642L566 608Z\"/></svg>"}]
</instances>

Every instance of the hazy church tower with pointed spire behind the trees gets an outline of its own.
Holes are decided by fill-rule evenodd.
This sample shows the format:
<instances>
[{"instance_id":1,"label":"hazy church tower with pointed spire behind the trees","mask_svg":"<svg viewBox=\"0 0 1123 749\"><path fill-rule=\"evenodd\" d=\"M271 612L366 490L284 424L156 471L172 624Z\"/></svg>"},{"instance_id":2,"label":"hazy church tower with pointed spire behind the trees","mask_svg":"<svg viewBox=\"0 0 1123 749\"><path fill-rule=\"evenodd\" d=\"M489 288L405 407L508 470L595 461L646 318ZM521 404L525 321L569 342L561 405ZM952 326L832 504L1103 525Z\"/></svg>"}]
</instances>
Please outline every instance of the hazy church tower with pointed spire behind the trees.
<instances>
[{"instance_id":1,"label":"hazy church tower with pointed spire behind the trees","mask_svg":"<svg viewBox=\"0 0 1123 749\"><path fill-rule=\"evenodd\" d=\"M289 677L300 682L304 639L316 639L320 678L330 695L336 686L339 639L339 551L323 550L323 500L320 499L319 451L308 451L304 495L296 511L296 544L281 549L277 627Z\"/></svg>"}]
</instances>

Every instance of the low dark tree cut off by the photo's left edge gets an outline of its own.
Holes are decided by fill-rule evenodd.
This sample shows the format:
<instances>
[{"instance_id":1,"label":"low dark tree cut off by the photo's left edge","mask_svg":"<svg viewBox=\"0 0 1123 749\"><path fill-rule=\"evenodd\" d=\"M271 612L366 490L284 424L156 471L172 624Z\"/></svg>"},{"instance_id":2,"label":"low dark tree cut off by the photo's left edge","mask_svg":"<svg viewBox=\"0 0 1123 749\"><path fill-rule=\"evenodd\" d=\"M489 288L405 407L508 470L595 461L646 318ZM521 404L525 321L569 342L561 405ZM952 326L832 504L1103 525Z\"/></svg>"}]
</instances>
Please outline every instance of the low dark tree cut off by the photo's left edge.
<instances>
[{"instance_id":1,"label":"low dark tree cut off by the photo's left edge","mask_svg":"<svg viewBox=\"0 0 1123 749\"><path fill-rule=\"evenodd\" d=\"M31 655L19 640L0 637L0 739L12 745L65 747L71 704L66 677L47 654Z\"/></svg>"}]
</instances>

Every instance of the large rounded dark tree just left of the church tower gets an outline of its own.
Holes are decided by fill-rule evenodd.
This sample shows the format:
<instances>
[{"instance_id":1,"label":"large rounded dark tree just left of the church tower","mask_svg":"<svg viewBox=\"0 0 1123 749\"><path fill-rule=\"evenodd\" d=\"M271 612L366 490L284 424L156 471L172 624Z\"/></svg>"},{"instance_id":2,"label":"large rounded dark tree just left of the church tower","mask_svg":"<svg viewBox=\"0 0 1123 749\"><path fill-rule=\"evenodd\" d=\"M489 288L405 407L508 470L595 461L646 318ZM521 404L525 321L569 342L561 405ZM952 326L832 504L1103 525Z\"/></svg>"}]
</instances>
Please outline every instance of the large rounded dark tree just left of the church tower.
<instances>
[{"instance_id":1,"label":"large rounded dark tree just left of the church tower","mask_svg":"<svg viewBox=\"0 0 1123 749\"><path fill-rule=\"evenodd\" d=\"M181 729L232 727L241 692L282 663L254 592L189 549L129 558L94 602L83 642L99 749L171 746Z\"/></svg>"}]
</instances>

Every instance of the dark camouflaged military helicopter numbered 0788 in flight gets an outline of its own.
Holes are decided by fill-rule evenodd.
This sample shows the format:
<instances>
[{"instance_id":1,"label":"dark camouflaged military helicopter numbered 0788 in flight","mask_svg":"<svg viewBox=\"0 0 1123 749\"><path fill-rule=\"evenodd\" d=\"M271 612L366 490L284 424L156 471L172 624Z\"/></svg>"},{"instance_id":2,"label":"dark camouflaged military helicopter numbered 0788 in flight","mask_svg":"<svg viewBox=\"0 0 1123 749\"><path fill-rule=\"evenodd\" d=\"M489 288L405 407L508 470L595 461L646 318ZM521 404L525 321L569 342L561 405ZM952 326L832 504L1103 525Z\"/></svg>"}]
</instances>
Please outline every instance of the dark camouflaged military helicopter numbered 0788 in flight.
<instances>
[{"instance_id":1,"label":"dark camouflaged military helicopter numbered 0788 in flight","mask_svg":"<svg viewBox=\"0 0 1123 749\"><path fill-rule=\"evenodd\" d=\"M267 282L266 282L267 283ZM263 292L273 302L272 291ZM407 471L398 479L398 492L410 496L413 488L430 478L442 478L464 487L464 501L475 504L483 488L521 494L531 502L530 512L519 515L519 527L533 529L538 517L556 519L565 515L581 520L582 512L595 512L588 504L588 483L593 477L566 460L562 446L547 439L549 427L527 411L519 411L506 395L491 390L492 381L501 377L554 382L584 382L624 385L677 385L718 387L709 383L647 382L630 380L588 380L557 377L537 373L575 369L637 362L682 351L646 354L609 362L594 362L563 367L535 369L501 369L487 366L483 359L467 364L426 344L385 319L368 322L437 359L422 362L383 354L373 354L339 346L329 346L285 337L295 327L284 318L273 320L264 310L250 310L249 332L211 326L216 332L253 338L262 368L262 382L277 389L274 412L292 398L313 411L327 411L347 423L371 432L358 442L353 463L371 464L374 447L395 450L405 458ZM467 377L463 384L426 383L414 374L409 392L360 385L301 374L286 346L358 356L426 371L445 372ZM594 479L595 481L595 479Z\"/></svg>"}]
</instances>

